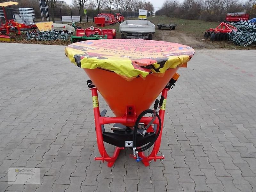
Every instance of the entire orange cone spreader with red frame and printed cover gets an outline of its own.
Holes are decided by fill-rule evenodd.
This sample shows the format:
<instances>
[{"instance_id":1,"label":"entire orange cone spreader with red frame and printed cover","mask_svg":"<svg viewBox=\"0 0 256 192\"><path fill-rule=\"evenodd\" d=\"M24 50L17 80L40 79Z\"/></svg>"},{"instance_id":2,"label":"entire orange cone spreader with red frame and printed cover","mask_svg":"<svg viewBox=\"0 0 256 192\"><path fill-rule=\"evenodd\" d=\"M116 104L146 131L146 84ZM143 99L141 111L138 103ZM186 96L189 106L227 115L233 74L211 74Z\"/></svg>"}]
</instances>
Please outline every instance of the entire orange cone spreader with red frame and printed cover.
<instances>
[{"instance_id":1,"label":"entire orange cone spreader with red frame and printed cover","mask_svg":"<svg viewBox=\"0 0 256 192\"><path fill-rule=\"evenodd\" d=\"M83 41L65 48L69 60L83 68L90 78L87 85L92 91L100 152L100 156L94 157L95 161L107 162L108 167L112 167L125 148L131 158L145 166L151 161L164 160L164 154L158 153L167 92L179 78L177 70L187 67L194 52L186 45L141 39ZM115 117L109 117L111 113L107 114L107 109L100 112L98 91ZM165 125L165 129L168 128ZM111 151L106 145L115 146L113 156L109 155Z\"/></svg>"}]
</instances>

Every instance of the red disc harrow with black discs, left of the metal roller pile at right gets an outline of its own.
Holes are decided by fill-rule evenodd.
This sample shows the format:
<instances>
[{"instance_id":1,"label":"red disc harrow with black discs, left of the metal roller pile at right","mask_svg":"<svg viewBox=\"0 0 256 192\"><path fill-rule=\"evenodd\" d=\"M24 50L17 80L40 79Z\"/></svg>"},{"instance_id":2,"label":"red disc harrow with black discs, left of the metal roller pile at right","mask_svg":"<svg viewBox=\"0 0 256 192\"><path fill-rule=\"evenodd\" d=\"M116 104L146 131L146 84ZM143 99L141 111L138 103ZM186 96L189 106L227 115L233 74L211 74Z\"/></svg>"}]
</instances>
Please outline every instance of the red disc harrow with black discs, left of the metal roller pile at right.
<instances>
[{"instance_id":1,"label":"red disc harrow with black discs, left of the metal roller pile at right","mask_svg":"<svg viewBox=\"0 0 256 192\"><path fill-rule=\"evenodd\" d=\"M228 33L230 33L232 30L236 30L236 28L222 22L220 25L218 25L218 27L206 30L204 33L204 38L210 38L211 41L227 41Z\"/></svg>"}]
</instances>

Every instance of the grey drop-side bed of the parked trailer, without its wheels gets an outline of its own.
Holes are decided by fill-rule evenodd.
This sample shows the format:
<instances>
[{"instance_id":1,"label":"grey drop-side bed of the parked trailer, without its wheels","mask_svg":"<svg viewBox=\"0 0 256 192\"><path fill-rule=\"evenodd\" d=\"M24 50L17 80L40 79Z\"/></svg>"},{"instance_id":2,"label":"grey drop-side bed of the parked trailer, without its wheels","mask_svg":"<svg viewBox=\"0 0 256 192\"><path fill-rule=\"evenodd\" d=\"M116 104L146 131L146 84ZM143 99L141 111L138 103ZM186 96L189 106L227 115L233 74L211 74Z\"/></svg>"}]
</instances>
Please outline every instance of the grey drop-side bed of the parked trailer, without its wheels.
<instances>
[{"instance_id":1,"label":"grey drop-side bed of the parked trailer, without its wheels","mask_svg":"<svg viewBox=\"0 0 256 192\"><path fill-rule=\"evenodd\" d=\"M125 20L119 29L120 32L155 33L155 25L148 20Z\"/></svg>"}]
</instances>

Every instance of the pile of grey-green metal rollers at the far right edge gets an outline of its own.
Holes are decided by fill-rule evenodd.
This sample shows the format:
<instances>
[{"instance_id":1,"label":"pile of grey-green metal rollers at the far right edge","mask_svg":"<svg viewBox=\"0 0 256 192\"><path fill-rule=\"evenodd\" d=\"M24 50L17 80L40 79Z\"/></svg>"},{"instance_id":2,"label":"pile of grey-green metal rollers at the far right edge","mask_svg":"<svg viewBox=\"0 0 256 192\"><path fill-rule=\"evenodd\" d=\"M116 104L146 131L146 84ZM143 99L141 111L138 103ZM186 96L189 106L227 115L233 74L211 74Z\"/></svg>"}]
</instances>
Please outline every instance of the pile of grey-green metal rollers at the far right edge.
<instances>
[{"instance_id":1,"label":"pile of grey-green metal rollers at the far right edge","mask_svg":"<svg viewBox=\"0 0 256 192\"><path fill-rule=\"evenodd\" d=\"M251 21L240 20L240 22L232 23L236 30L228 33L230 40L236 45L246 47L256 43L256 25Z\"/></svg>"}]
</instances>

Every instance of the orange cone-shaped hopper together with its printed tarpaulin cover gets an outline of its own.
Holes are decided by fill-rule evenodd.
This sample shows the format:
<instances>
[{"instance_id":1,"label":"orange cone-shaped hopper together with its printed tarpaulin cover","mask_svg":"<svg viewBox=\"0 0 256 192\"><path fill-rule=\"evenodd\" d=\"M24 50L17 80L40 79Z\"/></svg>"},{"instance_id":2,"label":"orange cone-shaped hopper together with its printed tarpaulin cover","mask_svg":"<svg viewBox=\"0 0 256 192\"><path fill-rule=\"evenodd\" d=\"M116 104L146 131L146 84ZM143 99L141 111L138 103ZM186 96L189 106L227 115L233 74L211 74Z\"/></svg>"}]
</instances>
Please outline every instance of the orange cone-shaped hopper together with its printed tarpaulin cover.
<instances>
[{"instance_id":1,"label":"orange cone-shaped hopper together with its printed tarpaulin cover","mask_svg":"<svg viewBox=\"0 0 256 192\"><path fill-rule=\"evenodd\" d=\"M134 105L137 115L148 109L194 50L169 42L116 39L74 43L66 47L65 53L84 68L120 117L127 105Z\"/></svg>"}]
</instances>

